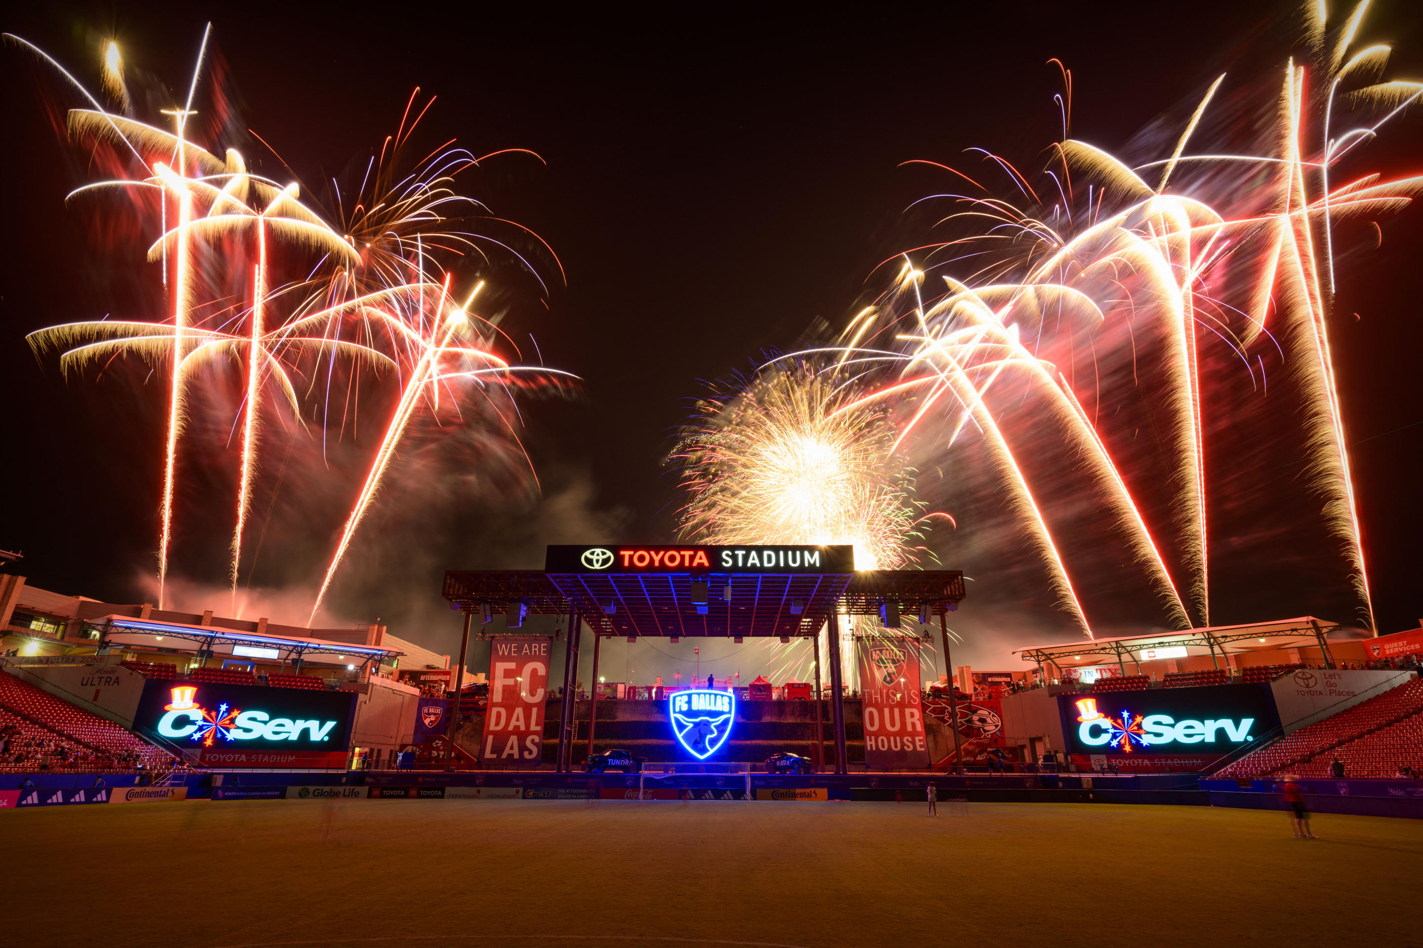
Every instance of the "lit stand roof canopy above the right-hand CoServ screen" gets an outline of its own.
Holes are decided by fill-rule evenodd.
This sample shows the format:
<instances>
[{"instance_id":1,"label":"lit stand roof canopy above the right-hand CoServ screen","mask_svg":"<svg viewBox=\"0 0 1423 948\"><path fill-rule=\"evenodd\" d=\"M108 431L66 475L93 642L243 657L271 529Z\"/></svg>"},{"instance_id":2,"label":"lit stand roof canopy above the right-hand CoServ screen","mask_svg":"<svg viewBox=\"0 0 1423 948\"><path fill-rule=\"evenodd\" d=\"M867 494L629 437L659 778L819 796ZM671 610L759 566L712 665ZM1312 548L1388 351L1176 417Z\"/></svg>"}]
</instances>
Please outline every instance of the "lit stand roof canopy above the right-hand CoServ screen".
<instances>
[{"instance_id":1,"label":"lit stand roof canopy above the right-hand CoServ screen","mask_svg":"<svg viewBox=\"0 0 1423 948\"><path fill-rule=\"evenodd\" d=\"M1342 634L1340 634L1342 632ZM1212 625L1208 628L1187 628L1174 632L1147 632L1121 638L1077 640L1062 645L1029 645L1015 648L1015 655L1023 661L1052 662L1059 668L1080 665L1120 664L1123 659L1151 661L1143 651L1164 648L1185 648L1185 657L1231 655L1237 652L1275 651L1279 648L1318 647L1326 637L1335 640L1355 638L1355 630L1346 630L1338 623L1301 615L1274 623L1247 623L1245 625ZM1180 652L1163 658L1183 657Z\"/></svg>"}]
</instances>

